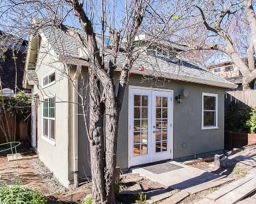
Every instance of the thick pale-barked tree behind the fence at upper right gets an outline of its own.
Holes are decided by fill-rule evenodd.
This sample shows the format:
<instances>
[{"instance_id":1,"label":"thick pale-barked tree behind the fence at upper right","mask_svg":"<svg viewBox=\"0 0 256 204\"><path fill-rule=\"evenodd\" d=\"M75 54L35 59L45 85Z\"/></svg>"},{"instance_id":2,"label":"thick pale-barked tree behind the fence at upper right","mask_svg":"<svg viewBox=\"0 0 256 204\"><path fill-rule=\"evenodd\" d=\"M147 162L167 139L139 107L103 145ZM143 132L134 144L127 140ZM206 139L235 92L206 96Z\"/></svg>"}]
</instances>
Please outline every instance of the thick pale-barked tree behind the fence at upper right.
<instances>
[{"instance_id":1,"label":"thick pale-barked tree behind the fence at upper right","mask_svg":"<svg viewBox=\"0 0 256 204\"><path fill-rule=\"evenodd\" d=\"M243 75L243 89L248 90L253 88L253 82L256 79L256 70L255 70L255 59L254 59L254 53L256 48L256 17L255 12L252 6L252 0L244 0L243 1L243 7L245 8L247 19L249 22L249 26L251 28L251 39L249 43L249 47L247 48L247 60L248 64L242 60L242 58L239 56L237 51L235 50L235 47L233 45L231 36L227 33L227 31L223 30L221 28L221 23L223 23L223 19L225 16L229 15L231 13L231 1L229 1L229 6L225 7L223 11L221 11L221 15L219 15L215 25L211 27L205 17L205 13L203 9L201 9L199 6L197 9L199 9L201 13L201 18L203 20L203 25L205 28L211 32L215 32L215 34L218 34L221 36L225 42L226 46L222 46L221 44L203 44L200 46L191 46L188 45L189 50L219 50L220 52L225 52L231 60L235 63L235 65L239 68L239 71Z\"/></svg>"}]
</instances>

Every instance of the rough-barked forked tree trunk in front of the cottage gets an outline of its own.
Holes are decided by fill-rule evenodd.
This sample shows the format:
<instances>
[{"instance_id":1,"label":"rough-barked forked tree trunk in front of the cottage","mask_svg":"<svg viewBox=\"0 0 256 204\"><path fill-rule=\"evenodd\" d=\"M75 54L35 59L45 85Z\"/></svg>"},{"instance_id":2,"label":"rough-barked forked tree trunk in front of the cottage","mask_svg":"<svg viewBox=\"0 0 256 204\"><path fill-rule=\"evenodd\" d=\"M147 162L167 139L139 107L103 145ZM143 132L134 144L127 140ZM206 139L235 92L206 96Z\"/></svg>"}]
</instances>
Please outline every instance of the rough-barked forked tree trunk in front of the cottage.
<instances>
[{"instance_id":1,"label":"rough-barked forked tree trunk in front of the cottage","mask_svg":"<svg viewBox=\"0 0 256 204\"><path fill-rule=\"evenodd\" d=\"M132 21L132 30L128 34L127 45L128 52L126 60L122 65L122 72L119 79L118 94L116 96L116 87L112 80L114 70L116 69L116 58L120 47L120 32L118 30L109 30L113 42L112 58L108 73L104 70L100 50L96 43L96 36L92 23L86 16L83 9L83 3L78 1L67 1L74 10L74 15L82 26L85 38L80 36L74 30L60 25L66 34L76 38L82 46L88 50L89 59L89 85L90 85L90 121L89 135L90 141L90 161L92 171L92 197L93 203L112 204L115 201L115 176L116 176L116 151L118 140L118 121L122 109L124 90L128 81L128 71L132 67L134 60L132 52L134 50L134 38L138 28L142 24L144 12L148 6L143 0L136 1L136 11ZM83 2L83 1L82 1ZM104 43L104 42L102 42ZM102 85L103 91L100 91ZM104 134L103 134L103 117L105 113L105 161L104 161Z\"/></svg>"}]
</instances>

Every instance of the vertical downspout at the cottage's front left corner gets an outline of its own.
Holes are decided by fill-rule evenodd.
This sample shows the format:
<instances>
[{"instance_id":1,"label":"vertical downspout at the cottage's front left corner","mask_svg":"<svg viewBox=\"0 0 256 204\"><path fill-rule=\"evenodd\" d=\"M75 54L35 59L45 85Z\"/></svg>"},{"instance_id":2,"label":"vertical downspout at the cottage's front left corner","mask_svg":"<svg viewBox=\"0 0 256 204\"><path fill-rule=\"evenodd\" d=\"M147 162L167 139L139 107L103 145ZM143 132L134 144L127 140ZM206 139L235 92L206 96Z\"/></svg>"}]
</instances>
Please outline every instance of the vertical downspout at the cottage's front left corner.
<instances>
[{"instance_id":1,"label":"vertical downspout at the cottage's front left corner","mask_svg":"<svg viewBox=\"0 0 256 204\"><path fill-rule=\"evenodd\" d=\"M74 134L74 187L78 187L78 76L81 72L82 66L76 66L76 72L73 78L73 134Z\"/></svg>"}]
</instances>

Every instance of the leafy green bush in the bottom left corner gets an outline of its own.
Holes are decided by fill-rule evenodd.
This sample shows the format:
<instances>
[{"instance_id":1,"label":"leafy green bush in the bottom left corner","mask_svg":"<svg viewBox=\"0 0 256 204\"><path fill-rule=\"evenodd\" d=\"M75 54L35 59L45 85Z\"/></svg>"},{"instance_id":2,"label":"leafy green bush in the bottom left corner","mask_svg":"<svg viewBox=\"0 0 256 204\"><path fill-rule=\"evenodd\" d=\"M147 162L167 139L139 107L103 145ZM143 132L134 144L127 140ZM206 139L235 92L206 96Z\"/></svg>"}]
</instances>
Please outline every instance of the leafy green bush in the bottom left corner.
<instances>
[{"instance_id":1,"label":"leafy green bush in the bottom left corner","mask_svg":"<svg viewBox=\"0 0 256 204\"><path fill-rule=\"evenodd\" d=\"M0 183L0 203L47 204L47 199L39 192L22 185L7 185Z\"/></svg>"}]
</instances>

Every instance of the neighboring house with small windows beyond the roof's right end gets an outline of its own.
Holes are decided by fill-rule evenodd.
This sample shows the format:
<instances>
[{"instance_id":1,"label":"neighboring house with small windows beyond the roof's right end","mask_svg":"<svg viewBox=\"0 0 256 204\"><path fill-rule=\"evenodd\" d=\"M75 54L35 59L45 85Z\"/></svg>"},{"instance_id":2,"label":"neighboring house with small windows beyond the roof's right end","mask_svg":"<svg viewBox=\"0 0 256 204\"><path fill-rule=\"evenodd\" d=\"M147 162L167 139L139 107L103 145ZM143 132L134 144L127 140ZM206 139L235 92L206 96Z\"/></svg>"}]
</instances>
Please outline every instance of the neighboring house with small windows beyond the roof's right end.
<instances>
[{"instance_id":1,"label":"neighboring house with small windows beyond the roof's right end","mask_svg":"<svg viewBox=\"0 0 256 204\"><path fill-rule=\"evenodd\" d=\"M243 60L247 63L247 58L243 58ZM243 76L234 62L228 61L218 64L211 64L206 66L206 68L210 72L213 72L214 74L217 74L218 76L221 76L238 85L235 89L225 89L225 91L243 91ZM256 89L255 83L253 89Z\"/></svg>"}]
</instances>

